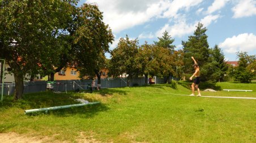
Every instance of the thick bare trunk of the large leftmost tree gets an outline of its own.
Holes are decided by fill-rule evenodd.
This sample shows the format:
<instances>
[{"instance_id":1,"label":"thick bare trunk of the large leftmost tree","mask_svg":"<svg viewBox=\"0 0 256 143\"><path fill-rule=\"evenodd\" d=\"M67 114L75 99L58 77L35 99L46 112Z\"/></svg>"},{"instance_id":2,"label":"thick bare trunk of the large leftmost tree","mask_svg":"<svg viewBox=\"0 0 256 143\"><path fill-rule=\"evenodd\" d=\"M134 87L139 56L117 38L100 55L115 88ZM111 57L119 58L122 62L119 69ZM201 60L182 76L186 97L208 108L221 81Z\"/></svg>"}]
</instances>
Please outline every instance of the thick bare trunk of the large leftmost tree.
<instances>
[{"instance_id":1,"label":"thick bare trunk of the large leftmost tree","mask_svg":"<svg viewBox=\"0 0 256 143\"><path fill-rule=\"evenodd\" d=\"M22 99L24 91L24 79L23 74L19 72L14 72L15 80L15 91L14 91L14 100Z\"/></svg>"}]
</instances>

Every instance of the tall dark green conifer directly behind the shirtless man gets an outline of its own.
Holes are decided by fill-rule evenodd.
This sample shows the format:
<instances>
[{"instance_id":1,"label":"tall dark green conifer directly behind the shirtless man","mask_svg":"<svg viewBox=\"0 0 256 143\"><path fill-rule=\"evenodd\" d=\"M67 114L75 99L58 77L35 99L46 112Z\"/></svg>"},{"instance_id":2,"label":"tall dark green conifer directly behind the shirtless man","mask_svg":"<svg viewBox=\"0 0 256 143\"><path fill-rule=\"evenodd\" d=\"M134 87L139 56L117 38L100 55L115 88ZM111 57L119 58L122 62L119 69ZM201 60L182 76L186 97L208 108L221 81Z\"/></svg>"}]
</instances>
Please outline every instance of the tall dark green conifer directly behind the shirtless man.
<instances>
[{"instance_id":1,"label":"tall dark green conifer directly behind the shirtless man","mask_svg":"<svg viewBox=\"0 0 256 143\"><path fill-rule=\"evenodd\" d=\"M200 81L207 82L208 87L212 88L216 84L216 78L219 78L219 75L216 74L217 62L213 62L210 57L211 49L207 42L207 29L203 28L201 23L198 23L196 28L194 35L189 36L188 41L182 41L184 46L184 72L186 74L194 72L192 66L194 62L191 60L191 56L195 57L200 67Z\"/></svg>"}]
</instances>

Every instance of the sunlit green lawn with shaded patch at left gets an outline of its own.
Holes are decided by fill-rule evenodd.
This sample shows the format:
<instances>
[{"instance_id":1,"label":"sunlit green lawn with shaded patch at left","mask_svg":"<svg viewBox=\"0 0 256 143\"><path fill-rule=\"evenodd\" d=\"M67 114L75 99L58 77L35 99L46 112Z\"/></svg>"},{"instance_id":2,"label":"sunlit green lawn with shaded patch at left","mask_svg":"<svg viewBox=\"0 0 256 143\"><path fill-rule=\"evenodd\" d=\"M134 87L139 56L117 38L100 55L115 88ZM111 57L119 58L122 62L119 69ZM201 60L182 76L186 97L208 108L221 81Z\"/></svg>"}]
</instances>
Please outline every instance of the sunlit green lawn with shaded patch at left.
<instances>
[{"instance_id":1,"label":"sunlit green lawn with shaded patch at left","mask_svg":"<svg viewBox=\"0 0 256 143\"><path fill-rule=\"evenodd\" d=\"M256 142L256 100L182 96L188 83L112 88L93 93L31 93L0 106L0 133L49 137L46 142ZM202 96L256 97L256 83L217 83L221 89ZM180 94L180 95L179 95ZM101 104L25 115L24 110L79 104L83 98Z\"/></svg>"}]
</instances>

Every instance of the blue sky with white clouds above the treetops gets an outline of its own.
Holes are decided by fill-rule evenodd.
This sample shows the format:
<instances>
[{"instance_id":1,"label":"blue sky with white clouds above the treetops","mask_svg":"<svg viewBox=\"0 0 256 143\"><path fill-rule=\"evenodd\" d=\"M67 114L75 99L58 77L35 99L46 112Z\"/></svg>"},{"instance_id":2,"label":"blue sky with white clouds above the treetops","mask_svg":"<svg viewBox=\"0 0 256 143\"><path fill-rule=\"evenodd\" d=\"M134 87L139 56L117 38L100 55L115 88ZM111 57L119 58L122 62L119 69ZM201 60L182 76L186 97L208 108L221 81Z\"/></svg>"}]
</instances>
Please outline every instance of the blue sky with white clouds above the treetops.
<instances>
[{"instance_id":1,"label":"blue sky with white clouds above the treetops","mask_svg":"<svg viewBox=\"0 0 256 143\"><path fill-rule=\"evenodd\" d=\"M85 2L96 3L112 29L110 50L126 34L139 44L153 43L165 30L178 50L200 22L208 29L210 48L217 44L226 60L237 60L237 51L256 55L256 0L84 0L79 5Z\"/></svg>"}]
</instances>

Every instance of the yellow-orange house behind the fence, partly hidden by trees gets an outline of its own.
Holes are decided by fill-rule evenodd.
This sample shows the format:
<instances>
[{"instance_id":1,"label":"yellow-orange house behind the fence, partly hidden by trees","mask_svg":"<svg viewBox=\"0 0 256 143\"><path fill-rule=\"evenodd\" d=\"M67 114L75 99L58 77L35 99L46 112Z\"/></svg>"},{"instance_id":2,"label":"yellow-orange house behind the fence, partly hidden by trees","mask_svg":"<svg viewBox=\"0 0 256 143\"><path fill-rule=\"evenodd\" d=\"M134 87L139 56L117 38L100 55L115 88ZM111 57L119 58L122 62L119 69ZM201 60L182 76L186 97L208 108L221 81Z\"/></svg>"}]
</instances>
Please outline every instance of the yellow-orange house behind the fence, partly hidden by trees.
<instances>
[{"instance_id":1,"label":"yellow-orange house behind the fence, partly hidden by trees","mask_svg":"<svg viewBox=\"0 0 256 143\"><path fill-rule=\"evenodd\" d=\"M102 72L100 77L101 79L108 78L108 75L107 75L107 73L109 72L108 69L103 68L101 72ZM54 80L76 80L76 79L80 79L80 78L79 78L79 72L76 71L76 68L74 66L67 66L65 70L62 69L58 73L54 74Z\"/></svg>"}]
</instances>

